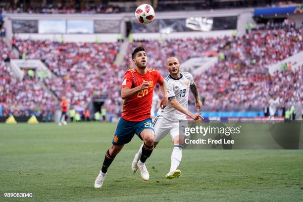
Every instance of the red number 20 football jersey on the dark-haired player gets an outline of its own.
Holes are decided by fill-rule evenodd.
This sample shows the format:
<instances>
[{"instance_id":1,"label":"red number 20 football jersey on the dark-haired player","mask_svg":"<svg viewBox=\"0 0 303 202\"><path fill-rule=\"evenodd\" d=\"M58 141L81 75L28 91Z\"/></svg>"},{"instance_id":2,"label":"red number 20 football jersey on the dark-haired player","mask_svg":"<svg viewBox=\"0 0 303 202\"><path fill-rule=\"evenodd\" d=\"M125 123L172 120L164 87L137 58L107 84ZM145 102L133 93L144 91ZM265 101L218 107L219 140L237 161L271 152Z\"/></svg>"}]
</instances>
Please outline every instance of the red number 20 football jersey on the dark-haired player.
<instances>
[{"instance_id":1,"label":"red number 20 football jersey on the dark-haired player","mask_svg":"<svg viewBox=\"0 0 303 202\"><path fill-rule=\"evenodd\" d=\"M150 83L149 89L139 91L123 101L122 118L127 121L143 121L151 117L153 87L156 83L162 84L163 78L154 69L148 69L145 75L139 74L136 69L130 69L124 75L122 88L135 88L144 81Z\"/></svg>"}]
</instances>

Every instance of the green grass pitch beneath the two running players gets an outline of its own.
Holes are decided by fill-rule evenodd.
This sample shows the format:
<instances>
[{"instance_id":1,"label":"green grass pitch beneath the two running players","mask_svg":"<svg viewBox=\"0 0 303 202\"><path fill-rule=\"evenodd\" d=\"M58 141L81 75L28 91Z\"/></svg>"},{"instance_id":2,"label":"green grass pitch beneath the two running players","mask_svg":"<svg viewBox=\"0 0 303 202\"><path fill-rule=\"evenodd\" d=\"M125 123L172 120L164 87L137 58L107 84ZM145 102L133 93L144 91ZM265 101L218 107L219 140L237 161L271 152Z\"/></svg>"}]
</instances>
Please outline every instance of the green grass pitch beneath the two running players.
<instances>
[{"instance_id":1,"label":"green grass pitch beneath the two running players","mask_svg":"<svg viewBox=\"0 0 303 202\"><path fill-rule=\"evenodd\" d=\"M303 150L185 150L178 179L167 180L172 143L165 137L147 161L150 180L131 173L134 136L94 188L116 124L0 124L0 201L303 200ZM4 193L33 193L8 199Z\"/></svg>"}]
</instances>

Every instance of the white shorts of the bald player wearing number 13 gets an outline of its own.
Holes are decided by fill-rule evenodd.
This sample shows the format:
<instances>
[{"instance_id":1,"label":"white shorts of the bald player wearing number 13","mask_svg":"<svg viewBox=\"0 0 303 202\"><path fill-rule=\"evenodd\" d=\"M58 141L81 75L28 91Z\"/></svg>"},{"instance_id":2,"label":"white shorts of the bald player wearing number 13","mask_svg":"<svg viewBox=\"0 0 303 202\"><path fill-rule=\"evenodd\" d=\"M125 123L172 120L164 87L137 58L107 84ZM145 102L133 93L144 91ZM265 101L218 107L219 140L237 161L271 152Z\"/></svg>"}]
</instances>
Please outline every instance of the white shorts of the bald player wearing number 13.
<instances>
[{"instance_id":1,"label":"white shorts of the bald player wearing number 13","mask_svg":"<svg viewBox=\"0 0 303 202\"><path fill-rule=\"evenodd\" d=\"M155 133L154 142L159 142L168 133L171 140L173 140L179 135L179 121L171 121L161 115L157 115L153 121L153 129Z\"/></svg>"}]
</instances>

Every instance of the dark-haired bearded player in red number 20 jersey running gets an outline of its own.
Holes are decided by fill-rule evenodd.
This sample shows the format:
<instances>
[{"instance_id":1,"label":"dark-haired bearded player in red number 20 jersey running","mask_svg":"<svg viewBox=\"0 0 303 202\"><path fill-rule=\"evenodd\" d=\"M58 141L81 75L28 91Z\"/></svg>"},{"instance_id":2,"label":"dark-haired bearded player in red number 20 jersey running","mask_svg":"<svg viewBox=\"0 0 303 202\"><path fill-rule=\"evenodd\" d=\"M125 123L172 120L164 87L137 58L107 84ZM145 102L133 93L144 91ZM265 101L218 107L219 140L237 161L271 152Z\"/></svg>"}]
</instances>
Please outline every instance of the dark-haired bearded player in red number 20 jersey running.
<instances>
[{"instance_id":1,"label":"dark-haired bearded player in red number 20 jersey running","mask_svg":"<svg viewBox=\"0 0 303 202\"><path fill-rule=\"evenodd\" d=\"M126 71L122 81L121 97L124 100L122 117L117 125L112 146L105 154L101 171L95 181L95 188L102 187L107 168L124 144L131 141L134 134L144 141L142 155L137 164L138 169L144 180L150 178L145 161L152 154L154 147L154 129L150 118L153 88L156 83L160 85L163 94L161 108L164 108L168 101L166 84L158 71L147 68L147 55L143 47L138 47L133 51L132 59L136 68Z\"/></svg>"}]
</instances>

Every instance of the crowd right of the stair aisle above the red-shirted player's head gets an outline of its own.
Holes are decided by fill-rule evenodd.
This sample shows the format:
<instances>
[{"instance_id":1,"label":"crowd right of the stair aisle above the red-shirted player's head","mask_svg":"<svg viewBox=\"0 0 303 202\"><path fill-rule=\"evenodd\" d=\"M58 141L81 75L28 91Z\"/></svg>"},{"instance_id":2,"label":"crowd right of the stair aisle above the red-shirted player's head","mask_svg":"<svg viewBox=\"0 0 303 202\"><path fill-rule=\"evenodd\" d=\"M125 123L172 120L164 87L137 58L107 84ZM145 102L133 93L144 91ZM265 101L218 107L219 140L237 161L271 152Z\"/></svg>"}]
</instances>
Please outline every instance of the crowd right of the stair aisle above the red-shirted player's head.
<instances>
[{"instance_id":1,"label":"crowd right of the stair aisle above the red-shirted player's head","mask_svg":"<svg viewBox=\"0 0 303 202\"><path fill-rule=\"evenodd\" d=\"M251 31L241 38L174 39L145 41L143 44L151 55L150 67L159 69L162 75L167 75L165 60L169 56L176 56L182 63L191 57L219 54L221 59L216 65L201 75L194 75L205 99L203 108L253 110L266 106L269 96L283 91L282 86L279 89L273 87L272 80L276 75L269 75L267 68L303 50L302 31L302 28L286 26L284 29ZM140 45L142 42L136 42L128 50ZM122 66L125 65L132 67L128 56ZM296 74L287 75L291 81L295 80ZM303 86L302 80L297 83ZM295 91L298 88L290 88L290 92L281 98L283 102L301 103L302 98Z\"/></svg>"}]
</instances>

